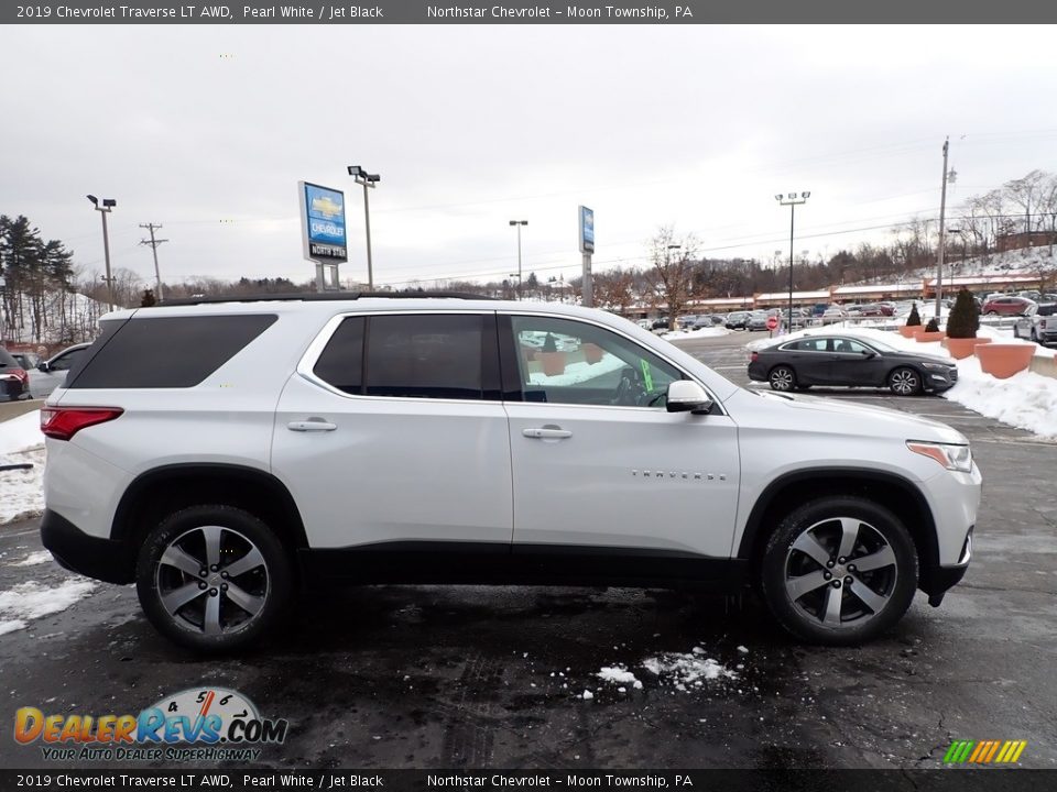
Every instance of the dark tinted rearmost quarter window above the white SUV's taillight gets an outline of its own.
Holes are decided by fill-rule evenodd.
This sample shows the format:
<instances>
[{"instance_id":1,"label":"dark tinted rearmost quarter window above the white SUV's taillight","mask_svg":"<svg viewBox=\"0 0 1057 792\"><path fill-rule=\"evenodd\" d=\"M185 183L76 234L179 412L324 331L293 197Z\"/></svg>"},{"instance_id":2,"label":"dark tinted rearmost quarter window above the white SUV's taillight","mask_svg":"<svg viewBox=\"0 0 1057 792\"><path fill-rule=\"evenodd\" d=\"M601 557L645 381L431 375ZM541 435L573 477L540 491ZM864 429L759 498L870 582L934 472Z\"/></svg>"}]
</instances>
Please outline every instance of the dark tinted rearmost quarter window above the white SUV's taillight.
<instances>
[{"instance_id":1,"label":"dark tinted rearmost quarter window above the white SUV's taillight","mask_svg":"<svg viewBox=\"0 0 1057 792\"><path fill-rule=\"evenodd\" d=\"M68 388L194 387L227 363L277 317L161 317L117 324L81 355ZM108 322L109 323L109 322Z\"/></svg>"}]
</instances>

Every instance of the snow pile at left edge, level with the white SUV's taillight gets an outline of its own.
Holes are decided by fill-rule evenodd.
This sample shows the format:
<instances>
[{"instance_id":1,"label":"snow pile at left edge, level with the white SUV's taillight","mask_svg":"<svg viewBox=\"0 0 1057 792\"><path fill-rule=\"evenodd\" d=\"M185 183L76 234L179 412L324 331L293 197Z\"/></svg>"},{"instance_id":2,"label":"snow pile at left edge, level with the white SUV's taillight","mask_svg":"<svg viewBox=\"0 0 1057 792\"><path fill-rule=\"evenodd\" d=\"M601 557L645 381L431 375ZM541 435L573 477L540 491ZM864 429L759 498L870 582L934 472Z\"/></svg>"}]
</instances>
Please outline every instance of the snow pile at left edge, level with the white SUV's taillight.
<instances>
[{"instance_id":1,"label":"snow pile at left edge, level with the white SUV's taillight","mask_svg":"<svg viewBox=\"0 0 1057 792\"><path fill-rule=\"evenodd\" d=\"M40 410L0 422L0 464L33 465L0 471L0 525L44 510L44 458Z\"/></svg>"}]
</instances>

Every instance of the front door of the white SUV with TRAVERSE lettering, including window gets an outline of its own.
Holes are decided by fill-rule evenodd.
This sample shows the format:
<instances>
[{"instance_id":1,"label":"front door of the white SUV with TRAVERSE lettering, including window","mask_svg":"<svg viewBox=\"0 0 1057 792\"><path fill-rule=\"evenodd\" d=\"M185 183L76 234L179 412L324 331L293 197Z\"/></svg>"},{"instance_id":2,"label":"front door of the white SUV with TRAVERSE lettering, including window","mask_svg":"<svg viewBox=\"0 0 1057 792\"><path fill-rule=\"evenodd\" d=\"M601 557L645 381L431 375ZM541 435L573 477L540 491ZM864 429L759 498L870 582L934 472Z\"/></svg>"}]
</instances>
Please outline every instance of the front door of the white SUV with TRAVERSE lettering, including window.
<instances>
[{"instance_id":1,"label":"front door of the white SUV with TRAVERSE lettering, including window","mask_svg":"<svg viewBox=\"0 0 1057 792\"><path fill-rule=\"evenodd\" d=\"M667 385L686 373L590 322L501 316L500 328L503 388L524 399L506 403L514 552L564 544L729 558L737 427L719 409L666 410Z\"/></svg>"}]
</instances>

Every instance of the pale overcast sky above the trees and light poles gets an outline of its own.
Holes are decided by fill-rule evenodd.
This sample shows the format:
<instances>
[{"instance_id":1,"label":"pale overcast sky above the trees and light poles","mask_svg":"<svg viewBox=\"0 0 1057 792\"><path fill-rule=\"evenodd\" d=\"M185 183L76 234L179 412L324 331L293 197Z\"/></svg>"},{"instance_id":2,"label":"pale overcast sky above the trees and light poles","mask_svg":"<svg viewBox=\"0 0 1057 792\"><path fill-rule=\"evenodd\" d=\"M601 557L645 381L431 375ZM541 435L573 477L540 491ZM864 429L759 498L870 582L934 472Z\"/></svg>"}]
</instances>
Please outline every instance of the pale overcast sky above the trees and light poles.
<instances>
[{"instance_id":1,"label":"pale overcast sky above the trees and light poles","mask_svg":"<svg viewBox=\"0 0 1057 792\"><path fill-rule=\"evenodd\" d=\"M642 265L663 224L701 253L832 255L938 215L941 146L981 193L1057 169L1054 30L1007 26L85 25L0 30L0 213L88 271L313 277L297 182L346 193L349 262L375 284ZM222 222L233 221L233 222ZM860 230L862 229L862 230ZM874 230L865 230L874 229ZM844 233L838 233L843 231Z\"/></svg>"}]
</instances>

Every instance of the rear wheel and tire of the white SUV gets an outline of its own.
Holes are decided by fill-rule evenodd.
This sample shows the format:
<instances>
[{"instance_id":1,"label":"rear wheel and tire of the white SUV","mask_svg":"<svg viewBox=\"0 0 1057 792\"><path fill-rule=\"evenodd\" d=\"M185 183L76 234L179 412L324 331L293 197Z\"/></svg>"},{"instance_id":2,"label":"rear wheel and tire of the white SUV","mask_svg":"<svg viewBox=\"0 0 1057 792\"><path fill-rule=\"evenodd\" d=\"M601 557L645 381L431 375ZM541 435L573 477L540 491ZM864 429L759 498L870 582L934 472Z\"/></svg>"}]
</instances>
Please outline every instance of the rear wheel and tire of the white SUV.
<instances>
[{"instance_id":1,"label":"rear wheel and tire of the white SUV","mask_svg":"<svg viewBox=\"0 0 1057 792\"><path fill-rule=\"evenodd\" d=\"M217 537L213 551L207 537ZM217 563L206 569L210 558ZM201 569L195 571L194 562ZM168 515L146 536L137 559L135 591L148 619L173 642L203 653L259 640L285 616L291 588L282 542L262 520L224 504Z\"/></svg>"}]
</instances>

